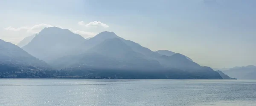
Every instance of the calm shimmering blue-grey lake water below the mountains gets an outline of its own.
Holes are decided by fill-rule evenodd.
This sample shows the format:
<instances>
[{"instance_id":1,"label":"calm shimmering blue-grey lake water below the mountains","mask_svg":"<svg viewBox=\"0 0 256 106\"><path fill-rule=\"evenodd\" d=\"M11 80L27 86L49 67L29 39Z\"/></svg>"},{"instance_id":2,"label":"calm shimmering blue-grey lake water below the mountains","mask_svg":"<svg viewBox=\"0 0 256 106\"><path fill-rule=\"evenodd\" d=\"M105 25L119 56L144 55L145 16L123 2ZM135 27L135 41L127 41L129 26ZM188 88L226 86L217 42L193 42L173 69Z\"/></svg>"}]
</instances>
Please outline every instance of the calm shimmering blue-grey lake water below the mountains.
<instances>
[{"instance_id":1,"label":"calm shimmering blue-grey lake water below the mountains","mask_svg":"<svg viewBox=\"0 0 256 106\"><path fill-rule=\"evenodd\" d=\"M256 80L0 79L0 106L256 106Z\"/></svg>"}]
</instances>

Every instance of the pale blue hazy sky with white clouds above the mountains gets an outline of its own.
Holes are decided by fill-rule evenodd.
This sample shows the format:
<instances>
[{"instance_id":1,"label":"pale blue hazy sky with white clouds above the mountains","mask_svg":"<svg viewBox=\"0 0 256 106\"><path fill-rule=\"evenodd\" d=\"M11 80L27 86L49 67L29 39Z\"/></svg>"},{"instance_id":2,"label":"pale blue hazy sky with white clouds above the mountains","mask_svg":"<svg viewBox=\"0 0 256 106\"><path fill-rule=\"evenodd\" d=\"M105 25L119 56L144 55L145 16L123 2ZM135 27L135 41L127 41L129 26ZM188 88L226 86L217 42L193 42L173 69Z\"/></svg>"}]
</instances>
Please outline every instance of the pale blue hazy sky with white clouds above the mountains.
<instances>
[{"instance_id":1,"label":"pale blue hazy sky with white clouds above the mountains","mask_svg":"<svg viewBox=\"0 0 256 106\"><path fill-rule=\"evenodd\" d=\"M0 39L17 44L44 27L99 32L201 66L256 65L256 0L0 0Z\"/></svg>"}]
</instances>

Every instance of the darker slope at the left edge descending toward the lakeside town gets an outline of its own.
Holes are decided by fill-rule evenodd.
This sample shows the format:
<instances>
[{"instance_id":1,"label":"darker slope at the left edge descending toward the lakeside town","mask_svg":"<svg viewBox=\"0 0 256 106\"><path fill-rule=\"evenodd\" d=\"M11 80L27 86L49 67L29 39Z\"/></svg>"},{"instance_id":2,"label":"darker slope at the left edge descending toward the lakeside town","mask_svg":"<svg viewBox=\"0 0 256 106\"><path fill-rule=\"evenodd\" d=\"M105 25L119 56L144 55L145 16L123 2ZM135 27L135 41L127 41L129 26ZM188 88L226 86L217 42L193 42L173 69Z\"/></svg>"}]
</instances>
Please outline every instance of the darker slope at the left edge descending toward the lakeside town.
<instances>
[{"instance_id":1,"label":"darker slope at the left edge descending toward the lakeside town","mask_svg":"<svg viewBox=\"0 0 256 106\"><path fill-rule=\"evenodd\" d=\"M49 65L25 52L20 47L0 39L0 71L26 68L49 68Z\"/></svg>"}]
</instances>

